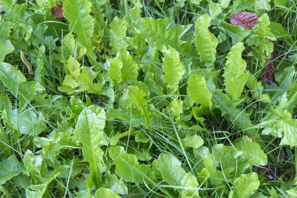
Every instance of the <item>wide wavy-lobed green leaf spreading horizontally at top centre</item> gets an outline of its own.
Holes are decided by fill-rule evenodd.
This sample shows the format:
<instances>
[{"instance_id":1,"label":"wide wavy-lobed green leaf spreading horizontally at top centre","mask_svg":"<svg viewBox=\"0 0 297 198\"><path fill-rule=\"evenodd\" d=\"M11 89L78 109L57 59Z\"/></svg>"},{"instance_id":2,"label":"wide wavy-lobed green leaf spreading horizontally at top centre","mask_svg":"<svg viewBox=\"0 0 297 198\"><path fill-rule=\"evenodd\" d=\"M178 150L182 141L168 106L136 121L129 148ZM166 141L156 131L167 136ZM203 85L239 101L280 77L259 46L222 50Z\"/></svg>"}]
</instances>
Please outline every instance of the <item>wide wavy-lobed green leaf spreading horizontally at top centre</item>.
<instances>
[{"instance_id":1,"label":"wide wavy-lobed green leaf spreading horizontally at top centre","mask_svg":"<svg viewBox=\"0 0 297 198\"><path fill-rule=\"evenodd\" d=\"M176 47L183 42L180 38L192 27L192 25L176 24L169 28L170 20L141 18L136 20L138 32L146 39L152 48L166 52L166 45ZM168 29L169 28L169 29Z\"/></svg>"}]
</instances>

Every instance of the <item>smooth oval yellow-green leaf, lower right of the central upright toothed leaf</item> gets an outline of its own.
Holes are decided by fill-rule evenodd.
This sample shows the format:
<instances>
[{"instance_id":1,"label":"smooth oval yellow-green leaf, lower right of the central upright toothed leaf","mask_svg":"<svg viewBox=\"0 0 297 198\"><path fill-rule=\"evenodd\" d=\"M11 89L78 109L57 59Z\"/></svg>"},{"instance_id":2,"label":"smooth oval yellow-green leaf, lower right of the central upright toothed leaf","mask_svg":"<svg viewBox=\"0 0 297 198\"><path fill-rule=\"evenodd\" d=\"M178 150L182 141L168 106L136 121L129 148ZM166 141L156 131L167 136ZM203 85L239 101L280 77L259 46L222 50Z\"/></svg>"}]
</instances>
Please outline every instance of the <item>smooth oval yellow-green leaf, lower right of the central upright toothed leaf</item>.
<instances>
[{"instance_id":1,"label":"smooth oval yellow-green leaf, lower right of the central upright toothed leaf","mask_svg":"<svg viewBox=\"0 0 297 198\"><path fill-rule=\"evenodd\" d=\"M211 92L206 87L204 78L198 74L190 76L188 87L189 96L195 100L196 104L201 104L203 107L211 108Z\"/></svg>"}]
</instances>

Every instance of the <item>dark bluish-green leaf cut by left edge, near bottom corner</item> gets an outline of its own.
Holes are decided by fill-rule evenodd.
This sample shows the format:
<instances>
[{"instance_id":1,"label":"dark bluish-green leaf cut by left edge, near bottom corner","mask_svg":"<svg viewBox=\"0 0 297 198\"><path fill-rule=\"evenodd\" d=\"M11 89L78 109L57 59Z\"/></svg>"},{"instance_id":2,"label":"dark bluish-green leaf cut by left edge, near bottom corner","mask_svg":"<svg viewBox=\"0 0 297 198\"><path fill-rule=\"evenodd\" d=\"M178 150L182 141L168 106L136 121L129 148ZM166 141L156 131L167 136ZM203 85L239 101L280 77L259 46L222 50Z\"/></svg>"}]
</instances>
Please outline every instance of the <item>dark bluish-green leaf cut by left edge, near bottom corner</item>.
<instances>
[{"instance_id":1,"label":"dark bluish-green leaf cut by left edge, near bottom corner","mask_svg":"<svg viewBox=\"0 0 297 198\"><path fill-rule=\"evenodd\" d=\"M15 154L8 157L7 160L0 162L0 184L5 184L7 180L20 174L24 170L23 164L20 163Z\"/></svg>"}]
</instances>

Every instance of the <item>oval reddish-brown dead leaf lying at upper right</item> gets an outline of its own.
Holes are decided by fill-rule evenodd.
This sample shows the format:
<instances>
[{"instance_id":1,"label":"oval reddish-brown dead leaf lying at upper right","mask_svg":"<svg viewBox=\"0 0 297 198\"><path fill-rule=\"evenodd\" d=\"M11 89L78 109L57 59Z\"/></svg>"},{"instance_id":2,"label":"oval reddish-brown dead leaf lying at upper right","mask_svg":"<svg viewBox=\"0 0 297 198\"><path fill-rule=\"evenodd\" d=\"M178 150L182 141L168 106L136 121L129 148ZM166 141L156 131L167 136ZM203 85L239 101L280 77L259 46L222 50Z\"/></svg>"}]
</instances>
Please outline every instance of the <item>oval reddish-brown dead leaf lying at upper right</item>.
<instances>
[{"instance_id":1,"label":"oval reddish-brown dead leaf lying at upper right","mask_svg":"<svg viewBox=\"0 0 297 198\"><path fill-rule=\"evenodd\" d=\"M241 12L230 16L230 23L232 25L240 25L249 30L258 24L257 20L258 16L250 12Z\"/></svg>"}]
</instances>

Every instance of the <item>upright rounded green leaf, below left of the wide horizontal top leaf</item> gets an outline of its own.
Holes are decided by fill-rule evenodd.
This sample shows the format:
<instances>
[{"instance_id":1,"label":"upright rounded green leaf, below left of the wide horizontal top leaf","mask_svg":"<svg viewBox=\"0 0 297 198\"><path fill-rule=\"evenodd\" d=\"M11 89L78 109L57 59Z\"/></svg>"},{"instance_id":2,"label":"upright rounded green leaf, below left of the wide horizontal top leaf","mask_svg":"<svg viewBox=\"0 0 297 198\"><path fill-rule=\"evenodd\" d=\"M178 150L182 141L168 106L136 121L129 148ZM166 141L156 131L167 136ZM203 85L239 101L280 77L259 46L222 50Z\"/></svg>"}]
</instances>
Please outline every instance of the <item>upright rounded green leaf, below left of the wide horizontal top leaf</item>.
<instances>
[{"instance_id":1,"label":"upright rounded green leaf, below left of the wide horizontal top leaf","mask_svg":"<svg viewBox=\"0 0 297 198\"><path fill-rule=\"evenodd\" d=\"M116 57L122 61L121 75L125 83L133 84L137 81L138 76L138 65L135 60L133 60L129 51L126 49L119 49ZM120 66L119 66L120 67Z\"/></svg>"}]
</instances>

